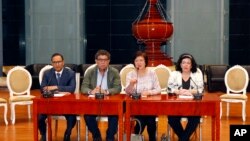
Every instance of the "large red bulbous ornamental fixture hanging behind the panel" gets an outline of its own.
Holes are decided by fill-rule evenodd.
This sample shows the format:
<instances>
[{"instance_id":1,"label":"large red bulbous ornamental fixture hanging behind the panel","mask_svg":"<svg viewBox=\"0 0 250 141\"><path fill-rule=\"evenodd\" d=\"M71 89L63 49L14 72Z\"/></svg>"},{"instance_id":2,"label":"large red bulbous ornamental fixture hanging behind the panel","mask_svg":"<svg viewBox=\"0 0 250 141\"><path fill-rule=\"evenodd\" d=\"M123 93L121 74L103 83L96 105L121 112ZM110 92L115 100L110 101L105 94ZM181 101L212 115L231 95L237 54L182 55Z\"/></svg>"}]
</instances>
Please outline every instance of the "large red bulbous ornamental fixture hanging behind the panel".
<instances>
[{"instance_id":1,"label":"large red bulbous ornamental fixture hanging behind the panel","mask_svg":"<svg viewBox=\"0 0 250 141\"><path fill-rule=\"evenodd\" d=\"M138 42L146 44L148 65L173 65L171 57L161 52L161 44L173 34L173 25L168 22L159 0L147 0L141 13L132 23L132 32Z\"/></svg>"}]
</instances>

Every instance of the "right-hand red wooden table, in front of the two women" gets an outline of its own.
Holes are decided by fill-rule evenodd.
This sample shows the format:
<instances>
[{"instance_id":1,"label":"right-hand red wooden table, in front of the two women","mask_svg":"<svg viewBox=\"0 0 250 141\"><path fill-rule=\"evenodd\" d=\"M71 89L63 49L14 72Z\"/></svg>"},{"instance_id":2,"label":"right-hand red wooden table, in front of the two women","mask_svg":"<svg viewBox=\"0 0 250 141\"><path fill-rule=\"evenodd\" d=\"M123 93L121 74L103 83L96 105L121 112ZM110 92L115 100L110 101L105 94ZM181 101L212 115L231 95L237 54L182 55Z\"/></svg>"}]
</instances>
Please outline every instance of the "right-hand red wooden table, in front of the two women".
<instances>
[{"instance_id":1,"label":"right-hand red wooden table, in front of the two women","mask_svg":"<svg viewBox=\"0 0 250 141\"><path fill-rule=\"evenodd\" d=\"M212 117L212 140L220 140L220 99L205 94L202 100L180 99L176 96L155 95L140 100L126 97L126 138L130 140L130 117L135 115L183 115Z\"/></svg>"}]
</instances>

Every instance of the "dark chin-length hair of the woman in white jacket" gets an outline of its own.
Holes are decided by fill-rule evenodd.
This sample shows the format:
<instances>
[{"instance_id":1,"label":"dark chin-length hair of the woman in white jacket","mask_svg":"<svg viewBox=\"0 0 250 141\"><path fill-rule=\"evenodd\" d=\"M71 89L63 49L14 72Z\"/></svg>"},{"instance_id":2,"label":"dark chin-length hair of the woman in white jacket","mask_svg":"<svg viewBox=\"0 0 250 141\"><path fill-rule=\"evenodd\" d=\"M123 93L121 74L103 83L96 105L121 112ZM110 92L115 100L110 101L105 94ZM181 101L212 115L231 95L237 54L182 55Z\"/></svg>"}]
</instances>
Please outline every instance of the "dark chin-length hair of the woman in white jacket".
<instances>
[{"instance_id":1,"label":"dark chin-length hair of the woman in white jacket","mask_svg":"<svg viewBox=\"0 0 250 141\"><path fill-rule=\"evenodd\" d=\"M197 71L196 61L195 61L194 57L189 53L183 53L183 54L180 55L180 57L179 57L179 59L178 59L178 61L176 63L176 66L175 66L176 70L182 72L181 62L185 58L189 58L191 60L191 63L192 63L191 72L192 73L196 72Z\"/></svg>"}]
</instances>

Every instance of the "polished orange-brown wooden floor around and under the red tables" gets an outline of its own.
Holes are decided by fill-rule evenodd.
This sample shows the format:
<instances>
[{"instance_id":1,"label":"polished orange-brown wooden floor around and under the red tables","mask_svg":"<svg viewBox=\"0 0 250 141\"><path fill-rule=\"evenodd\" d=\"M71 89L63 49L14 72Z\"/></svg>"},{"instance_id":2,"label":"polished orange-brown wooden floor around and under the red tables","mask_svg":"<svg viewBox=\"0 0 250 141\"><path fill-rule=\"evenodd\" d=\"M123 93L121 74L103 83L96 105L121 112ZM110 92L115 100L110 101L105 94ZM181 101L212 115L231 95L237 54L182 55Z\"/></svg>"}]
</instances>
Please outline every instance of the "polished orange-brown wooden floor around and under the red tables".
<instances>
[{"instance_id":1,"label":"polished orange-brown wooden floor around and under the red tables","mask_svg":"<svg viewBox=\"0 0 250 141\"><path fill-rule=\"evenodd\" d=\"M31 92L32 93L32 92ZM218 93L211 93L220 95L221 92ZM8 90L7 89L0 89L0 97L8 98ZM223 105L224 106L224 105ZM224 108L223 108L224 109ZM249 102L247 103L247 111L250 109ZM9 125L5 125L3 120L3 108L0 107L1 116L0 116L0 141L33 141L33 122L32 119L28 119L27 116L27 108L26 106L17 106L16 107L16 123L15 125L11 124L10 121L10 109L8 109L8 122ZM225 110L223 110L223 114ZM204 117L203 123L201 124L202 128L202 140L203 141L210 141L211 140L211 118ZM242 121L241 118L241 104L232 104L231 105L231 112L230 117L227 118L225 114L221 119L221 129L220 129L220 138L221 141L229 141L229 126L232 124L250 124L250 112L247 112L246 122ZM66 128L66 122L64 120L59 121L59 129L57 136L53 133L53 140L54 141L62 141L63 140L63 133ZM54 127L54 126L53 126ZM105 138L107 123L100 122L99 127L101 129L102 137ZM53 129L53 128L52 128ZM158 121L158 140L160 140L160 136L167 131L167 118L166 116L160 116ZM53 129L54 131L54 129ZM146 130L143 133L145 140L148 140ZM90 140L91 134L89 134ZM76 128L73 129L71 140L76 140ZM85 140L85 122L83 118L81 119L81 140ZM177 139L175 139L177 141ZM197 140L195 136L192 137L192 141Z\"/></svg>"}]
</instances>

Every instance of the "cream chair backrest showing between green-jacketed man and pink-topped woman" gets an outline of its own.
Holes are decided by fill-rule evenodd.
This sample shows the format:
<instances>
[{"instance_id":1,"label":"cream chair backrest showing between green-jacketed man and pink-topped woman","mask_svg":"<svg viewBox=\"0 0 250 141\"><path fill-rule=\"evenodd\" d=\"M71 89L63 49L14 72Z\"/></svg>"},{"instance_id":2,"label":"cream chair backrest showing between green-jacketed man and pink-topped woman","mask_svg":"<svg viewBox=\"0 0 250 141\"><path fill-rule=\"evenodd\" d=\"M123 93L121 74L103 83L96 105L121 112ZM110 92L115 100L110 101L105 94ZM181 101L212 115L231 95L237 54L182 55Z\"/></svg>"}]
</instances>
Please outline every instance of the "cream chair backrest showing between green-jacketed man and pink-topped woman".
<instances>
[{"instance_id":1,"label":"cream chair backrest showing between green-jacketed man and pink-topped woman","mask_svg":"<svg viewBox=\"0 0 250 141\"><path fill-rule=\"evenodd\" d=\"M135 66L133 64L128 64L125 67L123 67L120 71L120 78L121 78L121 85L122 85L122 92L124 93L124 89L126 87L126 76L129 72L133 71L135 69Z\"/></svg>"}]
</instances>

